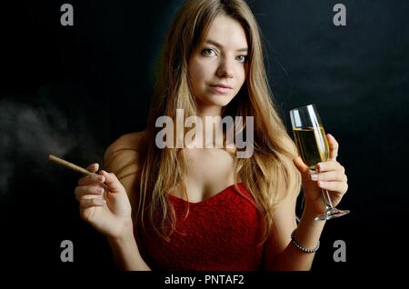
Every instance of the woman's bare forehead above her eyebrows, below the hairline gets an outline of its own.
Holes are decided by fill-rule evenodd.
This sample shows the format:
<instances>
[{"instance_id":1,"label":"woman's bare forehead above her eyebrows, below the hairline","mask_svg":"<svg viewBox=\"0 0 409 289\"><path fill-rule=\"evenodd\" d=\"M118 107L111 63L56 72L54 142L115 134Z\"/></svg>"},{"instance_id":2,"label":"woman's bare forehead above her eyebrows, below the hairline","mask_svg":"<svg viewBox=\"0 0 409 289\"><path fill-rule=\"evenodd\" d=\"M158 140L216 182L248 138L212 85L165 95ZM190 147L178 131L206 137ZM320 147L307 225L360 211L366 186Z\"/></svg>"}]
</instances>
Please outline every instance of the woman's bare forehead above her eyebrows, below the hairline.
<instances>
[{"instance_id":1,"label":"woman's bare forehead above her eyebrows, below the hairline","mask_svg":"<svg viewBox=\"0 0 409 289\"><path fill-rule=\"evenodd\" d=\"M227 15L218 15L214 18L205 36L206 40L213 40L230 48L247 47L247 38L243 26Z\"/></svg>"}]
</instances>

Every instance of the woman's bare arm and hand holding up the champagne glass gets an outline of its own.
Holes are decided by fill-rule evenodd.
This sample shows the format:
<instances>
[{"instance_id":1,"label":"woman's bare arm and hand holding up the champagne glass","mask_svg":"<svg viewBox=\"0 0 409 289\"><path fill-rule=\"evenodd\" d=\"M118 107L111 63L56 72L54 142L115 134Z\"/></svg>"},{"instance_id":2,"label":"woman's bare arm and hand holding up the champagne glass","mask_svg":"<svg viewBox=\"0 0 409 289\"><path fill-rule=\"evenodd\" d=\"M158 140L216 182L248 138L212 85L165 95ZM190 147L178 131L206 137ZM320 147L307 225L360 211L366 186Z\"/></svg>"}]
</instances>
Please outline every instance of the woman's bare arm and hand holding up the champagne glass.
<instances>
[{"instance_id":1,"label":"woman's bare arm and hand holding up the champagne glass","mask_svg":"<svg viewBox=\"0 0 409 289\"><path fill-rule=\"evenodd\" d=\"M330 148L329 161L317 166L312 174L300 157L294 164L302 174L305 194L304 212L298 226L294 224L295 200L280 204L274 213L274 232L266 241L265 269L267 270L310 270L314 253L304 253L291 242L291 233L298 244L313 249L323 232L325 221L316 222L317 215L324 214L325 204L321 189L328 190L334 206L339 204L348 189L344 167L336 161L338 143L332 135L326 135ZM291 212L291 214L289 214Z\"/></svg>"}]
</instances>

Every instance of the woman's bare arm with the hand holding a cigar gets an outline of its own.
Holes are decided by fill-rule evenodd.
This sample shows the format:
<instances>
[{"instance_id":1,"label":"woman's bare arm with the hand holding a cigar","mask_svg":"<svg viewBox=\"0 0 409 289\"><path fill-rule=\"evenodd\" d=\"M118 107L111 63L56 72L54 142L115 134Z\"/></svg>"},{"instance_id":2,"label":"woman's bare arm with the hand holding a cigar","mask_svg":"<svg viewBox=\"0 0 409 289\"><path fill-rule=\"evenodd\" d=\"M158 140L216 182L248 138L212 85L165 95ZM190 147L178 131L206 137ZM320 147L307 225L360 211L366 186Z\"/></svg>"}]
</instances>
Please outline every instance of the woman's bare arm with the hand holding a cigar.
<instances>
[{"instance_id":1,"label":"woman's bare arm with the hand holding a cigar","mask_svg":"<svg viewBox=\"0 0 409 289\"><path fill-rule=\"evenodd\" d=\"M121 137L109 146L105 153L105 161L109 160L108 163L105 163L107 170L114 173L120 172L118 168L123 165L124 156L126 159L129 159L130 156L124 155L127 150L123 149L129 140L127 137ZM112 157L116 152L120 153ZM135 193L133 192L135 175L134 177L128 175L120 182L114 173L107 173L103 170L98 172L98 164L91 164L87 169L95 174L82 177L75 188L75 197L80 203L81 216L97 231L105 234L119 269L150 270L141 257L134 236L132 209L128 194L132 196Z\"/></svg>"}]
</instances>

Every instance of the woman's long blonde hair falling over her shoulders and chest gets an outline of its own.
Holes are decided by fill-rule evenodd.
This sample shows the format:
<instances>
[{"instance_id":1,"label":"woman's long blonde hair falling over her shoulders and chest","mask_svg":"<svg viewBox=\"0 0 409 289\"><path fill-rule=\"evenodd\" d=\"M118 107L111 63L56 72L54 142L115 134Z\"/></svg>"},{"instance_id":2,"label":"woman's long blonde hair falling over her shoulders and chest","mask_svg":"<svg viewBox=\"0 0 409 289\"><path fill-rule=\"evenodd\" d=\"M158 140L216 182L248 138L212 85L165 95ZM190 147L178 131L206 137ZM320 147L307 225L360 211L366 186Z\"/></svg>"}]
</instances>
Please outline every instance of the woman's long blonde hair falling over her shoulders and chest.
<instances>
[{"instance_id":1,"label":"woman's long blonde hair falling over her shoulders and chest","mask_svg":"<svg viewBox=\"0 0 409 289\"><path fill-rule=\"evenodd\" d=\"M155 121L176 109L185 117L196 115L195 98L189 85L188 62L217 15L228 15L244 28L249 45L246 81L238 95L223 109L224 115L254 116L254 154L235 158L234 183L244 183L263 216L264 241L273 225L274 207L286 197L300 192L301 177L293 159L294 142L273 103L264 68L259 28L243 0L188 0L175 15L162 51L155 95L147 121L145 152L142 156L140 190L135 218L145 228L145 218L165 240L175 230L175 209L167 196L175 187L187 198L184 175L187 161L180 148L159 149ZM245 124L244 124L245 125ZM245 126L244 126L245 127ZM158 214L161 213L159 220Z\"/></svg>"}]
</instances>

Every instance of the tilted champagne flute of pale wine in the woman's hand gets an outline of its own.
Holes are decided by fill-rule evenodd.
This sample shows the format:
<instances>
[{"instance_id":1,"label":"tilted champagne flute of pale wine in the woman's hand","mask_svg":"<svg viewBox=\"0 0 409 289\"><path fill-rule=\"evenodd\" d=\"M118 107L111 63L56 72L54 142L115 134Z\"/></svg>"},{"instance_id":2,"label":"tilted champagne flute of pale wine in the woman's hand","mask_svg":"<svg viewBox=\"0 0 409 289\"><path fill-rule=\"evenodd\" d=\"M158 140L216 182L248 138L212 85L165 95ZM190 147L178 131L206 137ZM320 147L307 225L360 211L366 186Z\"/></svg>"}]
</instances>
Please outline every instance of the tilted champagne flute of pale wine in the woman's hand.
<instances>
[{"instance_id":1,"label":"tilted champagne flute of pale wine in the woman's hand","mask_svg":"<svg viewBox=\"0 0 409 289\"><path fill-rule=\"evenodd\" d=\"M329 158L328 143L321 118L315 105L305 105L290 111L291 125L293 126L295 145L298 152L308 165L315 171L315 165L326 162ZM323 192L325 213L317 216L315 221L324 221L348 214L348 210L334 208L327 190Z\"/></svg>"}]
</instances>

